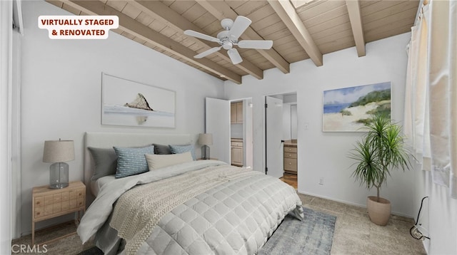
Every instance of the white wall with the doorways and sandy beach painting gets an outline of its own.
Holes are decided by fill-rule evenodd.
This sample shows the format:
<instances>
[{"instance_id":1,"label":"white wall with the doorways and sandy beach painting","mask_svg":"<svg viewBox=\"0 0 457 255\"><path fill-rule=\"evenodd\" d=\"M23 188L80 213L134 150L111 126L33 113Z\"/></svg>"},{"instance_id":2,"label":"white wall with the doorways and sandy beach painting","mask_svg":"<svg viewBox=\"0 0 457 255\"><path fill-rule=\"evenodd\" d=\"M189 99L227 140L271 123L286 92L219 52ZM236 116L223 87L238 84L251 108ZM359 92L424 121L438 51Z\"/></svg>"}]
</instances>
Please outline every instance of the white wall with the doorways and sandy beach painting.
<instances>
[{"instance_id":1,"label":"white wall with the doorways and sandy beach painting","mask_svg":"<svg viewBox=\"0 0 457 255\"><path fill-rule=\"evenodd\" d=\"M354 182L352 162L346 157L361 134L322 132L322 93L334 88L391 81L392 117L401 121L409 38L410 33L405 33L368 43L366 56L362 58L358 58L355 48L348 48L323 56L321 67L306 60L291 64L288 74L273 68L265 71L263 80L244 76L242 85L226 81L227 99L253 97L254 169L264 169L263 96L296 91L298 192L365 206L366 197L375 191L367 191ZM381 190L381 196L391 200L394 213L413 216L416 214L413 211L413 171L393 172L392 176ZM323 185L318 184L321 177Z\"/></svg>"}]
</instances>

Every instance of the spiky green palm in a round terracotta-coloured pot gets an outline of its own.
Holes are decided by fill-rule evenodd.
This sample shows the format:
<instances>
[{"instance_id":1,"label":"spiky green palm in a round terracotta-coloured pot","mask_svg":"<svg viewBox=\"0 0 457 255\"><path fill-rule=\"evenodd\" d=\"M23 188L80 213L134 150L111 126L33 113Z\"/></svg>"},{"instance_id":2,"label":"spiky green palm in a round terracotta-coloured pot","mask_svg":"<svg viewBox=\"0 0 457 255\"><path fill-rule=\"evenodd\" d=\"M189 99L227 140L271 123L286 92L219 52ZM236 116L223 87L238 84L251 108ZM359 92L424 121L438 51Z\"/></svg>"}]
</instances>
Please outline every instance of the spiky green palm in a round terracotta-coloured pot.
<instances>
[{"instance_id":1,"label":"spiky green palm in a round terracotta-coloured pot","mask_svg":"<svg viewBox=\"0 0 457 255\"><path fill-rule=\"evenodd\" d=\"M365 184L367 189L376 187L376 197L368 197L366 206L371 222L385 226L391 216L391 202L379 197L381 185L391 175L391 170L411 167L410 153L405 147L401 127L388 115L376 114L363 127L366 133L356 142L349 157L356 160L352 176Z\"/></svg>"}]
</instances>

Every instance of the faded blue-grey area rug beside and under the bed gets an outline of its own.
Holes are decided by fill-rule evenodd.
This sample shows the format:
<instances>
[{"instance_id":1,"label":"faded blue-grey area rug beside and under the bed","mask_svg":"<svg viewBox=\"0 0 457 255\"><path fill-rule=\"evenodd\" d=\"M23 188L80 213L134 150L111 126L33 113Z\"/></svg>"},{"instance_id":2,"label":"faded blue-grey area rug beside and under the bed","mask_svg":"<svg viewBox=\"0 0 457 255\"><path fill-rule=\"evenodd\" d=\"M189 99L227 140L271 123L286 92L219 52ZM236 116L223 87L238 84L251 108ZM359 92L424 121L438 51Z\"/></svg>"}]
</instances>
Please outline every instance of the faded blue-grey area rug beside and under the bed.
<instances>
[{"instance_id":1,"label":"faded blue-grey area rug beside and under the bed","mask_svg":"<svg viewBox=\"0 0 457 255\"><path fill-rule=\"evenodd\" d=\"M336 217L306 207L303 210L305 219L287 215L258 255L330 254ZM78 255L98 254L103 252L93 247Z\"/></svg>"}]
</instances>

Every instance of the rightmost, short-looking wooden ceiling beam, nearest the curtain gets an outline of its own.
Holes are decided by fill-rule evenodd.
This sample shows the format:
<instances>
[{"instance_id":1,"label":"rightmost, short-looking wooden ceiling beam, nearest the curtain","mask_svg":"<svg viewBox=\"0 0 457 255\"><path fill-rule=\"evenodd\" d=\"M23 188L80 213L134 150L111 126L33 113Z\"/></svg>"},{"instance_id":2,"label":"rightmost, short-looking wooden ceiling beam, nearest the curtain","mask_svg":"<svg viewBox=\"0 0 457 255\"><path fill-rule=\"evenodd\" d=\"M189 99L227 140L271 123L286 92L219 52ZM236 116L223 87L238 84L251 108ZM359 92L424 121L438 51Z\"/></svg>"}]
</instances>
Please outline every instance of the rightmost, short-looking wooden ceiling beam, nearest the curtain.
<instances>
[{"instance_id":1,"label":"rightmost, short-looking wooden ceiling beam, nearest the curtain","mask_svg":"<svg viewBox=\"0 0 457 255\"><path fill-rule=\"evenodd\" d=\"M354 41L356 41L357 55L363 57L365 52L365 35L363 34L362 16L360 11L360 3L358 0L346 0L348 7L349 21L351 21L352 33Z\"/></svg>"}]
</instances>

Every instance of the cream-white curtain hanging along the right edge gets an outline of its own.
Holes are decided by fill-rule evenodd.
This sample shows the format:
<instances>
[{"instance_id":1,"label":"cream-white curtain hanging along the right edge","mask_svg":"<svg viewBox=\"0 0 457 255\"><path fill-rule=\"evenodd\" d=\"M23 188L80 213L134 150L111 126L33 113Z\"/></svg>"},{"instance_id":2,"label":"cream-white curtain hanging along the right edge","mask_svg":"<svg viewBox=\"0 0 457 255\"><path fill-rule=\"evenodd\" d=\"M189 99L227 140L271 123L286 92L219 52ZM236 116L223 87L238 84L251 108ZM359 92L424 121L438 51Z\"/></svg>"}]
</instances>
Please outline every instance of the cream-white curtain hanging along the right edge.
<instances>
[{"instance_id":1,"label":"cream-white curtain hanging along the right edge","mask_svg":"<svg viewBox=\"0 0 457 255\"><path fill-rule=\"evenodd\" d=\"M403 128L422 169L457 199L457 1L430 1L411 30Z\"/></svg>"}]
</instances>

